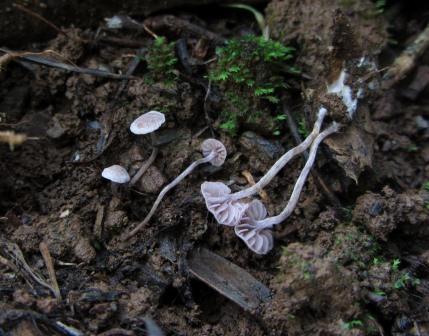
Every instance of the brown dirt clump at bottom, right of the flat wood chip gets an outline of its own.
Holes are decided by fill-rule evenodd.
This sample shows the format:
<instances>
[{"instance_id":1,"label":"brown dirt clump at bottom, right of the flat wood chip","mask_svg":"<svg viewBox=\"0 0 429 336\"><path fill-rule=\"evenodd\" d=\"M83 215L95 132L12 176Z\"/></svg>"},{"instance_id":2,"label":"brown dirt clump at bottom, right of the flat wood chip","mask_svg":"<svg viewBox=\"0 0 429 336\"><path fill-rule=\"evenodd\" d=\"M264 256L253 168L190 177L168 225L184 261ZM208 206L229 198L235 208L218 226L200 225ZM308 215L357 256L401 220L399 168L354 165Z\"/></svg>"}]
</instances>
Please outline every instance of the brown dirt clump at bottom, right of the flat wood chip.
<instances>
[{"instance_id":1,"label":"brown dirt clump at bottom, right of the flat wood chip","mask_svg":"<svg viewBox=\"0 0 429 336\"><path fill-rule=\"evenodd\" d=\"M284 248L271 287L275 296L264 318L276 335L318 330L343 335L342 323L360 314L355 274L324 256L318 246L292 243Z\"/></svg>"}]
</instances>

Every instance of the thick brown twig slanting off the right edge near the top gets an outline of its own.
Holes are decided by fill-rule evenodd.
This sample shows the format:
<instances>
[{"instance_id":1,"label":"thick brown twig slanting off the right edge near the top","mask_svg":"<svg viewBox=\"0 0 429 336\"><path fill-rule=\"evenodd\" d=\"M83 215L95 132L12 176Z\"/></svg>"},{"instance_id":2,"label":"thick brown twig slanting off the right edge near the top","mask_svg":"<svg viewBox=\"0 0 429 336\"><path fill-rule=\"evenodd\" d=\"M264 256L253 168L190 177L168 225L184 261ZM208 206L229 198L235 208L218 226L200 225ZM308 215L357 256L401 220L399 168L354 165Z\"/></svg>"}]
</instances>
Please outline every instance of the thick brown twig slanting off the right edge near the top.
<instances>
[{"instance_id":1,"label":"thick brown twig slanting off the right edge near the top","mask_svg":"<svg viewBox=\"0 0 429 336\"><path fill-rule=\"evenodd\" d=\"M416 60L429 47L429 24L395 59L383 76L383 89L389 89L403 79L416 65Z\"/></svg>"}]
</instances>

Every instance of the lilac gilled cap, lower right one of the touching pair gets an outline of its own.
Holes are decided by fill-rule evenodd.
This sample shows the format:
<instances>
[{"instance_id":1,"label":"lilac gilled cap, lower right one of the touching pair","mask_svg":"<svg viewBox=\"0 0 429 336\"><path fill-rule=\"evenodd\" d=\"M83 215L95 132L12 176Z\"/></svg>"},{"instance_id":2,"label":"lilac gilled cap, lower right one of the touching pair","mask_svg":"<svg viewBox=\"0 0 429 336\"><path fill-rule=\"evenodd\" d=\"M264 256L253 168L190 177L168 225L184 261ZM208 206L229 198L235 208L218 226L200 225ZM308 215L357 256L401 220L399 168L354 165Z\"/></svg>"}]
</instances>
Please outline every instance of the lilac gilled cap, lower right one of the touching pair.
<instances>
[{"instance_id":1,"label":"lilac gilled cap, lower right one of the touching pair","mask_svg":"<svg viewBox=\"0 0 429 336\"><path fill-rule=\"evenodd\" d=\"M235 234L247 247L257 254L267 254L274 246L270 229L258 229L256 221L267 217L267 210L259 200L253 200L246 209L240 224L234 228Z\"/></svg>"}]
</instances>

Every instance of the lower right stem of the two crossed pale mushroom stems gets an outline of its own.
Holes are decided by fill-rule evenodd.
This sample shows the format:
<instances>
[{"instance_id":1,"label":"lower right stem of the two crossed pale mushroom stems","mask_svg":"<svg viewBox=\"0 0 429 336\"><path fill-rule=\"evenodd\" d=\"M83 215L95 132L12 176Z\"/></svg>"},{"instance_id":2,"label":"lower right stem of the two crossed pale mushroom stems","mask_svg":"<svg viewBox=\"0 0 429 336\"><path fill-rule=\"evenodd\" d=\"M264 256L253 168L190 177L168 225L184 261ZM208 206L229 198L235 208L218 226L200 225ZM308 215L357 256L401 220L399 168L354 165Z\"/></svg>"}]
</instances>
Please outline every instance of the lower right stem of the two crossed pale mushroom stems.
<instances>
[{"instance_id":1,"label":"lower right stem of the two crossed pale mushroom stems","mask_svg":"<svg viewBox=\"0 0 429 336\"><path fill-rule=\"evenodd\" d=\"M301 174L299 175L298 180L296 181L296 184L293 188L288 204L279 215L256 221L258 230L269 229L273 227L273 225L280 224L292 214L292 211L295 209L299 201L299 196L301 194L302 188L304 187L305 181L307 180L308 174L310 173L311 167L313 166L316 159L317 149L320 143L332 133L338 132L339 128L340 125L334 122L330 127L325 129L316 137L313 144L311 145L308 160L305 163L305 166L302 169Z\"/></svg>"}]
</instances>

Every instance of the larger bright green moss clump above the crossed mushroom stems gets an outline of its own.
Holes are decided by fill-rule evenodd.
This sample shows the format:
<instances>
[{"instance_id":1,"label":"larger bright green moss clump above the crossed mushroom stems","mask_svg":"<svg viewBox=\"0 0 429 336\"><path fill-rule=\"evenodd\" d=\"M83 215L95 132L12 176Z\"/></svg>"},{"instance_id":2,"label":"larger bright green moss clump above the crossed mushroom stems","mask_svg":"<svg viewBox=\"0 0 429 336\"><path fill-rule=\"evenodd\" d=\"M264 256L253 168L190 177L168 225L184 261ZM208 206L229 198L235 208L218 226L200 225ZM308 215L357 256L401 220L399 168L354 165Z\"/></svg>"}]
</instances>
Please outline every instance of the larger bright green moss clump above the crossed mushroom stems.
<instances>
[{"instance_id":1,"label":"larger bright green moss clump above the crossed mushroom stems","mask_svg":"<svg viewBox=\"0 0 429 336\"><path fill-rule=\"evenodd\" d=\"M218 48L217 62L209 78L224 93L221 128L234 135L241 123L260 123L276 131L270 104L279 102L278 91L286 88L285 72L296 72L286 65L293 48L259 36L231 39Z\"/></svg>"}]
</instances>

